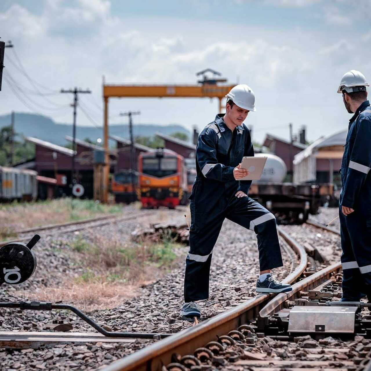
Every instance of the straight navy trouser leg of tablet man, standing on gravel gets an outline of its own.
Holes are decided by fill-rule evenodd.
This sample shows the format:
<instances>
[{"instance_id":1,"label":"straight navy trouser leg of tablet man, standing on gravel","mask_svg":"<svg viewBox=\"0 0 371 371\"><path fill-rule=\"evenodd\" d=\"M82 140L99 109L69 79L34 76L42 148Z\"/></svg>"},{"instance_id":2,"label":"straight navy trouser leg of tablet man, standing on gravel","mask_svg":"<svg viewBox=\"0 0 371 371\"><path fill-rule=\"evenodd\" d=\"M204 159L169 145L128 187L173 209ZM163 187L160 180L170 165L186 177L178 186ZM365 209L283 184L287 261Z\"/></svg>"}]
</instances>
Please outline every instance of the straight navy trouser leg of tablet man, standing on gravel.
<instances>
[{"instance_id":1,"label":"straight navy trouser leg of tablet man, standing on gravel","mask_svg":"<svg viewBox=\"0 0 371 371\"><path fill-rule=\"evenodd\" d=\"M213 248L224 217L195 214L189 234L190 250L185 259L184 301L209 298L209 276Z\"/></svg>"}]
</instances>

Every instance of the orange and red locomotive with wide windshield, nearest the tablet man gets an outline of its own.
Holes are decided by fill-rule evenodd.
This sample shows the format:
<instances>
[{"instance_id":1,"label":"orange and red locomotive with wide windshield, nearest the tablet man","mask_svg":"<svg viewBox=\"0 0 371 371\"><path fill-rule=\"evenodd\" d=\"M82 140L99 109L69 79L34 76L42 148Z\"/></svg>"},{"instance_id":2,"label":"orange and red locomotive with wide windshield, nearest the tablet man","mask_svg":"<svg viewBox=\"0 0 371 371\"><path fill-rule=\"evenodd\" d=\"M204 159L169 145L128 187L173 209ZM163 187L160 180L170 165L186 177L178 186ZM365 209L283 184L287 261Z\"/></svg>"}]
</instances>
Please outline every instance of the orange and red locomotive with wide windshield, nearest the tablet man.
<instances>
[{"instance_id":1,"label":"orange and red locomotive with wide windshield, nearest the tablet man","mask_svg":"<svg viewBox=\"0 0 371 371\"><path fill-rule=\"evenodd\" d=\"M142 152L138 158L138 199L153 208L187 203L187 168L183 156L159 148Z\"/></svg>"}]
</instances>

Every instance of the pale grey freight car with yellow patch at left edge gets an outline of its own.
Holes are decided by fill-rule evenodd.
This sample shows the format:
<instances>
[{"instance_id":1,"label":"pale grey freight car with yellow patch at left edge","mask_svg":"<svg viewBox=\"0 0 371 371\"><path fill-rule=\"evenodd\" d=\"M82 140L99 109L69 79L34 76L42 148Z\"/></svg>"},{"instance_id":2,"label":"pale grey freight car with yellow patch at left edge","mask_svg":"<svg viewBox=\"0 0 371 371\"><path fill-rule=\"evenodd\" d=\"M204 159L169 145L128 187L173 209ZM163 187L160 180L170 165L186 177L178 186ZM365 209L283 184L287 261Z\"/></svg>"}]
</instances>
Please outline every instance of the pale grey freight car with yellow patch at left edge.
<instances>
[{"instance_id":1,"label":"pale grey freight car with yellow patch at left edge","mask_svg":"<svg viewBox=\"0 0 371 371\"><path fill-rule=\"evenodd\" d=\"M37 173L33 170L0 166L0 200L31 201L37 198Z\"/></svg>"}]
</instances>

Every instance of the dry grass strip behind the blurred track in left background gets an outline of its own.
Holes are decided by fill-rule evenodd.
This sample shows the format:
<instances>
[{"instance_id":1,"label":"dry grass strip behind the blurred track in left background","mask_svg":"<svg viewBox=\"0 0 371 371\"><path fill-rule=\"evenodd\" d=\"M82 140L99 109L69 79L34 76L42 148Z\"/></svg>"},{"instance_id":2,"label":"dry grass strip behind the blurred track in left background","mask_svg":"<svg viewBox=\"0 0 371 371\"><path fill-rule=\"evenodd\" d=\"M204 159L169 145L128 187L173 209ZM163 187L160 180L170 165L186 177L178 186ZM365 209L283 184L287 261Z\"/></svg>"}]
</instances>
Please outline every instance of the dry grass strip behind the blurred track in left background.
<instances>
[{"instance_id":1,"label":"dry grass strip behind the blurred track in left background","mask_svg":"<svg viewBox=\"0 0 371 371\"><path fill-rule=\"evenodd\" d=\"M58 198L29 203L0 204L0 220L5 220L5 227L10 230L19 230L88 219L121 211L122 207L117 205L102 205L92 200Z\"/></svg>"}]
</instances>

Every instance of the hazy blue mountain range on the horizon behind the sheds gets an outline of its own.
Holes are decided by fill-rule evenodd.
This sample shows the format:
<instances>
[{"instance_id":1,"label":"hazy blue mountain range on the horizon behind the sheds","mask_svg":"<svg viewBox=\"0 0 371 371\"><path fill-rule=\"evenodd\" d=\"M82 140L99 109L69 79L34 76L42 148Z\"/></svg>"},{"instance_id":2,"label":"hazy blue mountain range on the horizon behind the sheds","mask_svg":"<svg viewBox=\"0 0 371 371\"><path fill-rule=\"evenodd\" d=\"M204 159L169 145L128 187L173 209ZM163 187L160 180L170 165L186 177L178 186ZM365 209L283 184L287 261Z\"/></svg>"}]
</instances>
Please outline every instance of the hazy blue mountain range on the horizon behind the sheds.
<instances>
[{"instance_id":1,"label":"hazy blue mountain range on the horizon behind the sheds","mask_svg":"<svg viewBox=\"0 0 371 371\"><path fill-rule=\"evenodd\" d=\"M10 125L10 114L0 116L0 129ZM55 122L52 118L15 112L14 116L14 131L24 137L36 137L54 144L66 145L68 142L65 139L66 135L72 136L72 125ZM191 138L190 131L178 124L160 125L160 124L134 124L133 135L142 137L152 137L156 132L163 134L173 134L174 132L182 132ZM93 142L97 138L102 138L103 128L94 126L76 126L76 138L89 138ZM129 139L128 124L109 125L109 135Z\"/></svg>"}]
</instances>

